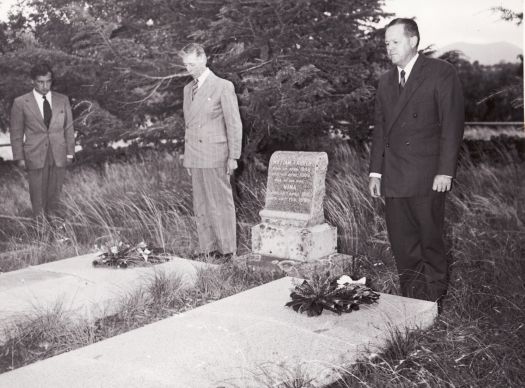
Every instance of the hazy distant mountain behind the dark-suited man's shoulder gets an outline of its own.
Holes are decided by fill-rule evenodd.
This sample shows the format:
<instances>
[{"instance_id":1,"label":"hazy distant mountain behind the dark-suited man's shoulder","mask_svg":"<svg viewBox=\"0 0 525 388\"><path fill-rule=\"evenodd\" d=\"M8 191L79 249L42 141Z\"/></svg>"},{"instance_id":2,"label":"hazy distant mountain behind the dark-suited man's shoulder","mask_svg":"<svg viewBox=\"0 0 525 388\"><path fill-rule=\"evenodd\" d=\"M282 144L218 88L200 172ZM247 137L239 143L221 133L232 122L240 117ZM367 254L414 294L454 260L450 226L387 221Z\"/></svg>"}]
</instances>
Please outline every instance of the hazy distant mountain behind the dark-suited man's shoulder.
<instances>
[{"instance_id":1,"label":"hazy distant mountain behind the dark-suited man's shoulder","mask_svg":"<svg viewBox=\"0 0 525 388\"><path fill-rule=\"evenodd\" d=\"M457 42L439 47L436 57L451 50L461 51L470 62L478 61L482 65L494 65L501 61L519 62L518 54L523 54L522 48L508 42L486 44Z\"/></svg>"}]
</instances>

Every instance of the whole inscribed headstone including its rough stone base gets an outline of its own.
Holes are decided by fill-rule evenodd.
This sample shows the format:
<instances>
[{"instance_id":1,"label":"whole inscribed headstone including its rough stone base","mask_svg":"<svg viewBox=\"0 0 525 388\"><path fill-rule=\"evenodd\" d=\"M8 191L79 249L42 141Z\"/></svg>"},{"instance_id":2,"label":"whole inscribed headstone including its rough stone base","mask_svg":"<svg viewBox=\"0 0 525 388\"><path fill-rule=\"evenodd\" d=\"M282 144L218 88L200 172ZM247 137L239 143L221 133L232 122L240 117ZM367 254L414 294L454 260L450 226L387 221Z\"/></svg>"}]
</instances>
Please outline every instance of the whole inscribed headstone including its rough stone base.
<instances>
[{"instance_id":1,"label":"whole inscribed headstone including its rough stone base","mask_svg":"<svg viewBox=\"0 0 525 388\"><path fill-rule=\"evenodd\" d=\"M327 167L325 152L272 155L261 223L252 228L253 253L311 261L336 252L337 229L324 222Z\"/></svg>"}]
</instances>

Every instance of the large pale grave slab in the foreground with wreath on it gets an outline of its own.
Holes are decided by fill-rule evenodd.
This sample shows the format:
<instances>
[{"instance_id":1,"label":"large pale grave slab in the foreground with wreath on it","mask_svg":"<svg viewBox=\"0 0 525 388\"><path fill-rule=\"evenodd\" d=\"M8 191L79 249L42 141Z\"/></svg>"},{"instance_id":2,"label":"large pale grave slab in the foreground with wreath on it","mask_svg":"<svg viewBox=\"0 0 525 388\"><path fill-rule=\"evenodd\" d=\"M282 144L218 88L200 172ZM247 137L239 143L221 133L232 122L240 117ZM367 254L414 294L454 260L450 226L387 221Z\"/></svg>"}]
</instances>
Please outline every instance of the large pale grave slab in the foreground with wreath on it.
<instances>
[{"instance_id":1,"label":"large pale grave slab in the foreground with wreath on it","mask_svg":"<svg viewBox=\"0 0 525 388\"><path fill-rule=\"evenodd\" d=\"M435 303L382 294L350 314L307 317L284 306L298 282L282 278L5 373L0 387L249 388L298 366L320 386L391 330L426 328L437 315Z\"/></svg>"}]
</instances>

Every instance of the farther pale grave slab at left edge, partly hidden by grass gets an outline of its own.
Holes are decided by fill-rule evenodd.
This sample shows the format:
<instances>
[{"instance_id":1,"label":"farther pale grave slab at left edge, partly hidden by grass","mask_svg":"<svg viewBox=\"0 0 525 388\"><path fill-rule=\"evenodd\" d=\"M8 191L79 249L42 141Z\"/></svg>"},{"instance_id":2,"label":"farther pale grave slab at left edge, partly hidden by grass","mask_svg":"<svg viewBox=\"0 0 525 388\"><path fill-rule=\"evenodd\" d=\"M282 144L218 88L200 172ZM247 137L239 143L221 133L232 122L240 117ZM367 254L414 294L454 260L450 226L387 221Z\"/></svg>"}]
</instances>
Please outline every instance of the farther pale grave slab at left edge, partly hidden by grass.
<instances>
[{"instance_id":1,"label":"farther pale grave slab at left edge, partly hidden by grass","mask_svg":"<svg viewBox=\"0 0 525 388\"><path fill-rule=\"evenodd\" d=\"M150 267L94 268L96 257L88 254L1 274L0 328L57 303L72 316L95 320L113 313L115 301L146 284L155 271L180 276L182 284L189 286L194 284L198 268L207 265L174 257ZM4 335L0 330L0 341Z\"/></svg>"}]
</instances>

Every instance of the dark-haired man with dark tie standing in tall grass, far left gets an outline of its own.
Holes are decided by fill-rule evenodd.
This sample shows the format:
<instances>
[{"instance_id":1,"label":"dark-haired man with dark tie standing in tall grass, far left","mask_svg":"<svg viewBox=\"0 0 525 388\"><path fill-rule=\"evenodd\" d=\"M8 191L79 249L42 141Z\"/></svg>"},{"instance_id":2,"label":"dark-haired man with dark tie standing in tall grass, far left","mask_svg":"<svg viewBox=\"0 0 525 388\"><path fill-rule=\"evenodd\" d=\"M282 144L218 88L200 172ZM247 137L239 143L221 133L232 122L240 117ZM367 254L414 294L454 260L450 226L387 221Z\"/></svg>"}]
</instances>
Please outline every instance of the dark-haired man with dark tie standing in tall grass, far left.
<instances>
[{"instance_id":1,"label":"dark-haired man with dark tie standing in tall grass, far left","mask_svg":"<svg viewBox=\"0 0 525 388\"><path fill-rule=\"evenodd\" d=\"M48 64L31 69L33 90L17 97L11 108L13 159L27 169L33 216L56 215L66 165L73 160L75 134L69 99L51 92Z\"/></svg>"}]
</instances>

